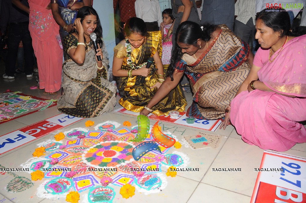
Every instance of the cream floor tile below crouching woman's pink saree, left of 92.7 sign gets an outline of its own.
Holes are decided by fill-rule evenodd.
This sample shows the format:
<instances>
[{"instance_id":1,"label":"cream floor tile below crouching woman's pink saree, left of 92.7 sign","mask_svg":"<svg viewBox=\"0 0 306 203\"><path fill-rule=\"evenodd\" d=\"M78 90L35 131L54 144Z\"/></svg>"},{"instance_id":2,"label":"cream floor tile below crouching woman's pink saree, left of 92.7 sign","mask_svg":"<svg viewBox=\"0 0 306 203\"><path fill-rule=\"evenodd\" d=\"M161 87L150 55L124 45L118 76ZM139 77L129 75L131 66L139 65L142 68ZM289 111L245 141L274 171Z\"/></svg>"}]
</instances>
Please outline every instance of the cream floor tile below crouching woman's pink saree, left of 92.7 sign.
<instances>
[{"instance_id":1,"label":"cream floor tile below crouching woman's pink saree, left of 92.7 sign","mask_svg":"<svg viewBox=\"0 0 306 203\"><path fill-rule=\"evenodd\" d=\"M254 168L260 166L262 155L259 147L229 137L201 182L252 196L258 174ZM219 168L241 168L241 172L212 171Z\"/></svg>"}]
</instances>

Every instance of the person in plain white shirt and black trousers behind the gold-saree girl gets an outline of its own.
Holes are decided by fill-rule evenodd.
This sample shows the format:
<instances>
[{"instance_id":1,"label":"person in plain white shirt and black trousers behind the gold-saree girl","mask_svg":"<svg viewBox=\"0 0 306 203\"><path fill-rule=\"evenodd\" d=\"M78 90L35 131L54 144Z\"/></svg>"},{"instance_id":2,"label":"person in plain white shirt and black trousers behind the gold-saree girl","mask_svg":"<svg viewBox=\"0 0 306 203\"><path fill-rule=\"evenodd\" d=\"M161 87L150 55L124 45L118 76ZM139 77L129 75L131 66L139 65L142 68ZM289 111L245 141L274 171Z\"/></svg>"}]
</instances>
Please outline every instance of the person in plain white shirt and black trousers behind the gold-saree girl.
<instances>
[{"instance_id":1,"label":"person in plain white shirt and black trousers behind the gold-saree girl","mask_svg":"<svg viewBox=\"0 0 306 203\"><path fill-rule=\"evenodd\" d=\"M141 18L147 25L147 31L159 31L162 23L162 13L158 0L136 0L136 17Z\"/></svg>"}]
</instances>

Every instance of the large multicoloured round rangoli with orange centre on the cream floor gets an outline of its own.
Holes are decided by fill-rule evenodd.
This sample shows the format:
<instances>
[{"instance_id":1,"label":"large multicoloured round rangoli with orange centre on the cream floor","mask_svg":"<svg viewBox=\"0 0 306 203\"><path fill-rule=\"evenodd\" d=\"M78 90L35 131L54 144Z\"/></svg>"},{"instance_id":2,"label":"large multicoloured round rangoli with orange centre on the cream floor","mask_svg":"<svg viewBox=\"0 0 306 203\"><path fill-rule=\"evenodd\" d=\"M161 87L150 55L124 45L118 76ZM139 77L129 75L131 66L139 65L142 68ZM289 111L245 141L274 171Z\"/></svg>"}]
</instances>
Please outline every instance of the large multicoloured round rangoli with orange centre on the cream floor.
<instances>
[{"instance_id":1,"label":"large multicoloured round rangoli with orange centre on the cream floor","mask_svg":"<svg viewBox=\"0 0 306 203\"><path fill-rule=\"evenodd\" d=\"M169 166L186 167L188 157L178 151L167 153L169 146L166 146L165 140L163 146L159 145L151 135L151 129L143 141L132 142L131 140L139 140L139 134L130 131L138 127L120 128L119 125L114 121L107 121L93 126L95 130L71 129L64 132L65 139L62 141L49 140L40 144L39 147L46 148L46 155L31 158L22 165L32 171L38 169L45 173L45 181L38 187L37 196L58 198L69 191L77 191L81 196L88 194L88 202L113 202L116 195L114 187L131 184L136 187L135 193L157 193L167 185L165 171ZM79 135L84 135L85 138L78 139ZM158 136L167 136L172 140L170 142L175 142L175 137L171 135L162 133ZM147 149L141 155L137 152L136 161L133 150L147 143L156 143L158 149ZM50 165L54 158L58 159L58 164ZM52 170L54 168L61 171ZM69 169L76 172L72 178L65 177ZM139 176L135 171L144 173ZM109 177L113 181L104 187L100 183L103 177ZM86 193L82 194L83 191ZM117 198L121 196L117 195Z\"/></svg>"}]
</instances>

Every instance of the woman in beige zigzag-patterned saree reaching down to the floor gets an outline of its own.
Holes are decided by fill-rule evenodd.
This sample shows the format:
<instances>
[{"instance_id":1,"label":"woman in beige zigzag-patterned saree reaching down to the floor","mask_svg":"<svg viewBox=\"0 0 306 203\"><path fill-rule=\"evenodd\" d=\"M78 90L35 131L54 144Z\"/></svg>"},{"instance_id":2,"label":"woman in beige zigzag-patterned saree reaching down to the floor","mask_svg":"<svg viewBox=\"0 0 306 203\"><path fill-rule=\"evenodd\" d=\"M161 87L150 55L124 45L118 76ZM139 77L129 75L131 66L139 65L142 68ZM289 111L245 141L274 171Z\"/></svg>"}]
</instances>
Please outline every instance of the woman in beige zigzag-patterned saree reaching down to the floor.
<instances>
[{"instance_id":1,"label":"woman in beige zigzag-patterned saree reaching down to the floor","mask_svg":"<svg viewBox=\"0 0 306 203\"><path fill-rule=\"evenodd\" d=\"M248 44L225 25L205 24L200 27L191 21L181 23L176 41L178 46L167 72L169 77L147 107L153 107L167 95L185 72L193 92L193 102L187 115L208 120L223 118L226 107L251 68L253 55L249 53ZM148 113L145 109L140 112L144 115Z\"/></svg>"}]
</instances>

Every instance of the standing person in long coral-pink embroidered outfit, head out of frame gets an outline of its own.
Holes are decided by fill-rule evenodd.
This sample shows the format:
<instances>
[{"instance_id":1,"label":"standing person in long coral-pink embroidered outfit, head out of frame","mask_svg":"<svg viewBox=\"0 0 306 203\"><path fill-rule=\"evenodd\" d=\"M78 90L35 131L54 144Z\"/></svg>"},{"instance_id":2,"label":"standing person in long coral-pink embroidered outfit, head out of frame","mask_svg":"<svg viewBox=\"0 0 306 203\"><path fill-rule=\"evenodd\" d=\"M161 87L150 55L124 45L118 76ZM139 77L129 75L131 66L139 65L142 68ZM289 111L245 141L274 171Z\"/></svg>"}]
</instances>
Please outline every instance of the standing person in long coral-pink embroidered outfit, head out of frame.
<instances>
[{"instance_id":1,"label":"standing person in long coral-pink embroidered outfit, head out of frame","mask_svg":"<svg viewBox=\"0 0 306 203\"><path fill-rule=\"evenodd\" d=\"M37 58L39 89L45 89L44 93L47 94L56 94L62 84L63 50L55 38L59 26L52 16L50 0L28 2L30 8L19 0L12 0L18 8L29 13L29 31Z\"/></svg>"}]
</instances>

